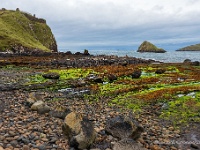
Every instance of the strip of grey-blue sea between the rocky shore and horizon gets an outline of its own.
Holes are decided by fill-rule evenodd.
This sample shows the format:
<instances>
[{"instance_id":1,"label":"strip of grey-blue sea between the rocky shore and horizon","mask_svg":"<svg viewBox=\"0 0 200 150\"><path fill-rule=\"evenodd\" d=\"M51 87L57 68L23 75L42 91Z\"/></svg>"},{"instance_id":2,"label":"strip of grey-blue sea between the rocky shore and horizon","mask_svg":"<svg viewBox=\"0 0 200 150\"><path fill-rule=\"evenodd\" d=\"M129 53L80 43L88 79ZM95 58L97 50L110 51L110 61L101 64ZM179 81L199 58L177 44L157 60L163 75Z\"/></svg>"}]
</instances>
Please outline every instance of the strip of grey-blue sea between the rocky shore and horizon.
<instances>
[{"instance_id":1,"label":"strip of grey-blue sea between the rocky shore and horizon","mask_svg":"<svg viewBox=\"0 0 200 150\"><path fill-rule=\"evenodd\" d=\"M70 50L72 53L83 52L80 50ZM152 59L166 63L179 63L185 59L200 61L200 51L167 51L166 53L139 53L134 50L88 50L91 55L116 55L129 56L142 59Z\"/></svg>"}]
</instances>

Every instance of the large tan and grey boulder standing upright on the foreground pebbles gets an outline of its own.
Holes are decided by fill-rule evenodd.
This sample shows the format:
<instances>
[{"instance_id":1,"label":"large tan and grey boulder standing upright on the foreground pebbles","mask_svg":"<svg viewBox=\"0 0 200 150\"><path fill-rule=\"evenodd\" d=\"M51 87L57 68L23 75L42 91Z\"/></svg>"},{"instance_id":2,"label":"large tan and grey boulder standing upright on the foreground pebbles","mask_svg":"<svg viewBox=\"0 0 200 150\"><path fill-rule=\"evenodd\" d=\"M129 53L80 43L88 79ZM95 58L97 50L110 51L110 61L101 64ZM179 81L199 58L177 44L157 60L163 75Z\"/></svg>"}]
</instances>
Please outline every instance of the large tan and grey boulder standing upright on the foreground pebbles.
<instances>
[{"instance_id":1,"label":"large tan and grey boulder standing upright on the foreground pebbles","mask_svg":"<svg viewBox=\"0 0 200 150\"><path fill-rule=\"evenodd\" d=\"M88 148L96 138L93 124L75 112L65 117L63 133L68 137L70 146L78 149Z\"/></svg>"}]
</instances>

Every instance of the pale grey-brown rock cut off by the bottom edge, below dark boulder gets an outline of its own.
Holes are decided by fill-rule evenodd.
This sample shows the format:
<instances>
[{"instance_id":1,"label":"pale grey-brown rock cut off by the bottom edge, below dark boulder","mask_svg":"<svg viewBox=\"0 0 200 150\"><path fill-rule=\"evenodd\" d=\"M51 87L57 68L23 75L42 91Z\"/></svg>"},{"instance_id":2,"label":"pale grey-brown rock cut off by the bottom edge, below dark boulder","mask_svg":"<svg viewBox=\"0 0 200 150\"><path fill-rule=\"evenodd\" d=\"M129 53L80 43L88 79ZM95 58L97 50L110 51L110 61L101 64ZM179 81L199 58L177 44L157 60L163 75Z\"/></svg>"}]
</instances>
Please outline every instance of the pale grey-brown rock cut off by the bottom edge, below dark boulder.
<instances>
[{"instance_id":1,"label":"pale grey-brown rock cut off by the bottom edge, below dark boulder","mask_svg":"<svg viewBox=\"0 0 200 150\"><path fill-rule=\"evenodd\" d=\"M113 150L147 150L142 144L132 139L123 139L114 144Z\"/></svg>"}]
</instances>

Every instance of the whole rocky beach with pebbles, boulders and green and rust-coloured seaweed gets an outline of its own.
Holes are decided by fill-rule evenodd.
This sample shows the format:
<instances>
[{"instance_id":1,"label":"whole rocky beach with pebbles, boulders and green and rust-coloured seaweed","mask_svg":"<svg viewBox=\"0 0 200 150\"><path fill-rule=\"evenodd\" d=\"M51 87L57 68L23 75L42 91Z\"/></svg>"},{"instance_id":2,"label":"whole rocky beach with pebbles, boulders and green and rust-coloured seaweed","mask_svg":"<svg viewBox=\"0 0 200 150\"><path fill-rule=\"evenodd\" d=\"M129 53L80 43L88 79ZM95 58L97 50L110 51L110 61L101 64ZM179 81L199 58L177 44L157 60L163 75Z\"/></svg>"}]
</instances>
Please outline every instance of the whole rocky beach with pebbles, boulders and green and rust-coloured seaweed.
<instances>
[{"instance_id":1,"label":"whole rocky beach with pebbles, boulders and green and rust-coloured seaweed","mask_svg":"<svg viewBox=\"0 0 200 150\"><path fill-rule=\"evenodd\" d=\"M198 62L67 52L0 65L0 150L200 148Z\"/></svg>"}]
</instances>

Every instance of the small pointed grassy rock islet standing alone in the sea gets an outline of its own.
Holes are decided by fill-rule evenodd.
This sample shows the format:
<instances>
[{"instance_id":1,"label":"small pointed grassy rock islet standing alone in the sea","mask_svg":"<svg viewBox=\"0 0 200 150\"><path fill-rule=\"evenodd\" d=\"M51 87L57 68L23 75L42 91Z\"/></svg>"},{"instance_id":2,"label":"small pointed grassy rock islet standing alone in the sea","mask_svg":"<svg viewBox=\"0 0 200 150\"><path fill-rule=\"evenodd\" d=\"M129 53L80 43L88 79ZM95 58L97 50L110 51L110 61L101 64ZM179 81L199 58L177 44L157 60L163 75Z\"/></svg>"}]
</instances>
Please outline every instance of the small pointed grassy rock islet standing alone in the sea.
<instances>
[{"instance_id":1,"label":"small pointed grassy rock islet standing alone in the sea","mask_svg":"<svg viewBox=\"0 0 200 150\"><path fill-rule=\"evenodd\" d=\"M148 41L144 41L138 48L137 52L154 52L154 53L165 53L166 51L161 48L157 48L155 45Z\"/></svg>"}]
</instances>

